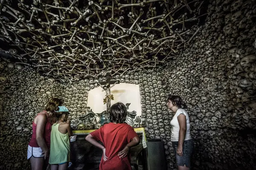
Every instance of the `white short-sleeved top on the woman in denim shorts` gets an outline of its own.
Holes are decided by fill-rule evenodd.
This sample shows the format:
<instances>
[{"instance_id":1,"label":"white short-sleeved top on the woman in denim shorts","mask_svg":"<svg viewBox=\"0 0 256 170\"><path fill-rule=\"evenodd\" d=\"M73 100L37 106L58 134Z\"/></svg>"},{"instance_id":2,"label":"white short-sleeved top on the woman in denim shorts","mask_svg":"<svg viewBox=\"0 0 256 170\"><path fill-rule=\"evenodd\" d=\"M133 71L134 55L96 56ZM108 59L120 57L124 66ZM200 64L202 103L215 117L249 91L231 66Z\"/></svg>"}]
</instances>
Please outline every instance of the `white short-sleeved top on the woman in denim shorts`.
<instances>
[{"instance_id":1,"label":"white short-sleeved top on the woman in denim shorts","mask_svg":"<svg viewBox=\"0 0 256 170\"><path fill-rule=\"evenodd\" d=\"M183 114L186 116L186 135L185 135L185 139L184 141L186 140L189 140L191 139L191 135L190 135L190 123L189 123L189 114L186 113L186 111L184 111L183 109L178 109L175 113L175 115L173 116L170 124L172 126L172 135L171 135L171 141L172 142L177 142L179 141L179 131L180 131L180 125L179 125L179 122L178 122L178 116L180 114Z\"/></svg>"}]
</instances>

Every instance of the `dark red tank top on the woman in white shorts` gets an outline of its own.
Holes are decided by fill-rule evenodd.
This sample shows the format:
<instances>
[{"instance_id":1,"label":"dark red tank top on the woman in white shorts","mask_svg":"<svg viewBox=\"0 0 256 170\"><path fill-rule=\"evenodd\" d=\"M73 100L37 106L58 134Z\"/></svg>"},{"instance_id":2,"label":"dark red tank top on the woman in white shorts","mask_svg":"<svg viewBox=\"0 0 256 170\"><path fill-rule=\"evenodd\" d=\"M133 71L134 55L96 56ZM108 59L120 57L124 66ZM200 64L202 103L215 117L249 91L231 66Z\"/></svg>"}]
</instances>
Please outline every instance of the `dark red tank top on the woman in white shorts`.
<instances>
[{"instance_id":1,"label":"dark red tank top on the woman in white shorts","mask_svg":"<svg viewBox=\"0 0 256 170\"><path fill-rule=\"evenodd\" d=\"M43 137L44 137L45 144L47 145L48 148L50 148L52 124L49 122L47 111L42 111L41 113L38 113L38 115L39 114L44 114L44 115L47 116L47 122L46 122L45 127L44 127ZM37 116L35 116L35 117L37 117ZM35 119L34 119L34 121L35 121ZM32 125L33 133L32 133L32 137L31 137L30 142L29 142L29 146L39 147L38 143L36 142L36 124L35 124L34 121L33 121L33 125Z\"/></svg>"}]
</instances>

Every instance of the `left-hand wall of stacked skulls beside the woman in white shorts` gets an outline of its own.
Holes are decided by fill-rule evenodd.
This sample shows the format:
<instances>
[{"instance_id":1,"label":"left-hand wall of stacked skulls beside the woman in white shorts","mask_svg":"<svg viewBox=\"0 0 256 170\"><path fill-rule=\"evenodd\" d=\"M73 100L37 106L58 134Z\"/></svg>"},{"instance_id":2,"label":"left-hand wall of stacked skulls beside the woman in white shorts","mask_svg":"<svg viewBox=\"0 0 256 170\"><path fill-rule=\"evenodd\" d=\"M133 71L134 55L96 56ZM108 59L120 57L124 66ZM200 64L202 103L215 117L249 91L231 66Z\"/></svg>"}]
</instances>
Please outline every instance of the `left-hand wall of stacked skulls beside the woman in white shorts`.
<instances>
[{"instance_id":1,"label":"left-hand wall of stacked skulls beside the woman in white shorts","mask_svg":"<svg viewBox=\"0 0 256 170\"><path fill-rule=\"evenodd\" d=\"M31 68L0 60L0 170L29 169L26 150L35 114L63 85Z\"/></svg>"}]
</instances>

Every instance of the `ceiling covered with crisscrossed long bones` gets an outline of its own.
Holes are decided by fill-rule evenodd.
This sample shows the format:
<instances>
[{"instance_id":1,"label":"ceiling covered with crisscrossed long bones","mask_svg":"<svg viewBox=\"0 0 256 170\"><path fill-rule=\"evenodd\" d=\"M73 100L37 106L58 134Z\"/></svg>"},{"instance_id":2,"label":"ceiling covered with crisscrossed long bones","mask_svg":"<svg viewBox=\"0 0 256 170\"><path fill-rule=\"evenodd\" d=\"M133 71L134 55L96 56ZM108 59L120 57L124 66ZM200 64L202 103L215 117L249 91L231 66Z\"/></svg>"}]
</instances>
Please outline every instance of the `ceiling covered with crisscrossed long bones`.
<instances>
[{"instance_id":1,"label":"ceiling covered with crisscrossed long bones","mask_svg":"<svg viewBox=\"0 0 256 170\"><path fill-rule=\"evenodd\" d=\"M155 69L192 42L205 3L1 0L1 48L15 62L62 81Z\"/></svg>"}]
</instances>

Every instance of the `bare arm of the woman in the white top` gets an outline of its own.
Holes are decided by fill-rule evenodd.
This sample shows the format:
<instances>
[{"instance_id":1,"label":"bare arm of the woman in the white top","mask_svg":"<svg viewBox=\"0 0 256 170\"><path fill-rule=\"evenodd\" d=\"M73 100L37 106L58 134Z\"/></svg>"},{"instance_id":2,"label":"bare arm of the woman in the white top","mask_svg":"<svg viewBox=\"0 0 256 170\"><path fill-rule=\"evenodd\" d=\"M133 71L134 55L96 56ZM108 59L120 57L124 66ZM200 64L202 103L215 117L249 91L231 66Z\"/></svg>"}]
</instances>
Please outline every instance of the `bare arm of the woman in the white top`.
<instances>
[{"instance_id":1,"label":"bare arm of the woman in the white top","mask_svg":"<svg viewBox=\"0 0 256 170\"><path fill-rule=\"evenodd\" d=\"M177 119L178 119L178 122L180 125L177 154L179 156L183 156L183 142L184 142L185 135L186 135L186 116L183 114L180 114L177 117Z\"/></svg>"}]
</instances>

